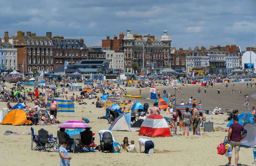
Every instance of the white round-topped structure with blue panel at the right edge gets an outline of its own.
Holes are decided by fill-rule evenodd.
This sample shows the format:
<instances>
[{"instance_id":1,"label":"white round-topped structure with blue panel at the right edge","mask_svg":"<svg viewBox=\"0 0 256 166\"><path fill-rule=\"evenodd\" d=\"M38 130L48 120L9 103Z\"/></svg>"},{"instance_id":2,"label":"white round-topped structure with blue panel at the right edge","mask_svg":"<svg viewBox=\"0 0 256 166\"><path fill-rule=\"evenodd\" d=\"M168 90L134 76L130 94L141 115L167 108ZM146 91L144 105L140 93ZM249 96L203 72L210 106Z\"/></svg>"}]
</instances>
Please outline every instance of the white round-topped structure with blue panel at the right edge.
<instances>
[{"instance_id":1,"label":"white round-topped structure with blue panel at the right edge","mask_svg":"<svg viewBox=\"0 0 256 166\"><path fill-rule=\"evenodd\" d=\"M250 65L251 63L251 65ZM246 47L246 52L242 56L242 67L245 71L256 71L256 48Z\"/></svg>"}]
</instances>

